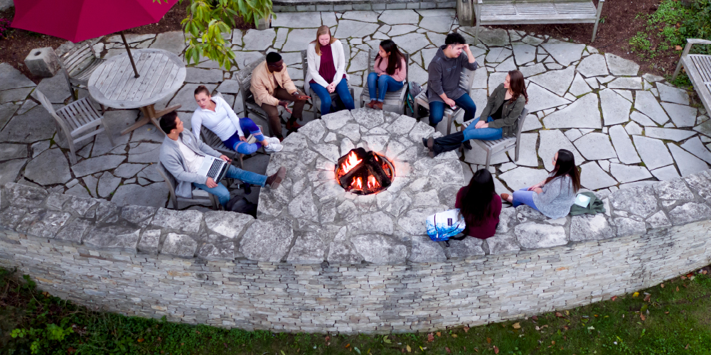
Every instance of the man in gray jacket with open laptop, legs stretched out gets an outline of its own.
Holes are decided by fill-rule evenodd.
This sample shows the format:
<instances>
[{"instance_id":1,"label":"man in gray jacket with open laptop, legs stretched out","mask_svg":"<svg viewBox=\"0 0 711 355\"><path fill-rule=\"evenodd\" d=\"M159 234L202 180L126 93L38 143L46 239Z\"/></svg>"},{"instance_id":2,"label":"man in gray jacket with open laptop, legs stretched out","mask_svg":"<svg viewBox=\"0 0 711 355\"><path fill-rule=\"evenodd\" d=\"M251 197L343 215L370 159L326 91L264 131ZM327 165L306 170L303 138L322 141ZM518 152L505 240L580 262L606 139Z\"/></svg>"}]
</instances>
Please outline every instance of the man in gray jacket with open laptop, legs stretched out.
<instances>
[{"instance_id":1,"label":"man in gray jacket with open laptop, legs stretched out","mask_svg":"<svg viewBox=\"0 0 711 355\"><path fill-rule=\"evenodd\" d=\"M183 130L183 121L174 111L161 117L160 124L161 129L166 133L161 146L160 160L166 170L178 180L176 195L180 197L192 197L192 183L217 196L220 204L226 206L230 201L230 192L225 185L219 183L223 178L238 179L252 185L276 189L287 174L287 169L284 167L279 168L276 174L269 177L235 168L230 164L232 160L226 155L221 155L199 141L190 131Z\"/></svg>"}]
</instances>

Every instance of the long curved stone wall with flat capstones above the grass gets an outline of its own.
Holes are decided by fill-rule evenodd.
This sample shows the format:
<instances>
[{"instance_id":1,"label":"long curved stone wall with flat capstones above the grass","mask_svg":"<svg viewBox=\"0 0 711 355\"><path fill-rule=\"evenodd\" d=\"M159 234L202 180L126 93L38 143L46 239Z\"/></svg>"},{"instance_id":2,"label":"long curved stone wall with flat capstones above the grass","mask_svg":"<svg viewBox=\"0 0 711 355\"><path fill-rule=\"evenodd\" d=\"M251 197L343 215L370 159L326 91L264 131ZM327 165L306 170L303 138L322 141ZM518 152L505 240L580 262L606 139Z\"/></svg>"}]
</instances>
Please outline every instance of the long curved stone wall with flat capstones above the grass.
<instances>
[{"instance_id":1,"label":"long curved stone wall with flat capstones above the grass","mask_svg":"<svg viewBox=\"0 0 711 355\"><path fill-rule=\"evenodd\" d=\"M619 190L604 202L608 214L556 220L528 207L503 209L491 239L443 249L423 234L402 241L407 261L296 264L287 259L297 227L287 223L116 207L9 183L0 192L0 265L53 295L126 315L347 333L572 308L710 263L709 170ZM244 256L255 235L271 236L260 240L277 261Z\"/></svg>"}]
</instances>

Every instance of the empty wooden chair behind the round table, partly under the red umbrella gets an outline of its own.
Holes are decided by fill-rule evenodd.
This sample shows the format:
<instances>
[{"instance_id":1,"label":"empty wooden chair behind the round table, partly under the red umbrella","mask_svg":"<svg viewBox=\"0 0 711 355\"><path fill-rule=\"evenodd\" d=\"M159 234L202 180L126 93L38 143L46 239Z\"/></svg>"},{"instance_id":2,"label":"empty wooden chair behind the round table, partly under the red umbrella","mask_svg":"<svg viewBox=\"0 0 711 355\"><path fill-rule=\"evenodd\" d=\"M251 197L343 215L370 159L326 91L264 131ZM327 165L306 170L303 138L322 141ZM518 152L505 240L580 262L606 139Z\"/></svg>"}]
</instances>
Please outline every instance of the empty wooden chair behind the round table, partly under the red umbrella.
<instances>
[{"instance_id":1,"label":"empty wooden chair behind the round table, partly under the red umbrella","mask_svg":"<svg viewBox=\"0 0 711 355\"><path fill-rule=\"evenodd\" d=\"M59 64L67 77L69 91L72 92L72 97L77 100L79 95L75 89L79 89L80 85L87 87L89 77L96 68L105 62L105 59L99 58L94 50L95 42L87 40L85 43L77 43L73 48L59 57ZM103 107L102 107L103 110Z\"/></svg>"}]
</instances>

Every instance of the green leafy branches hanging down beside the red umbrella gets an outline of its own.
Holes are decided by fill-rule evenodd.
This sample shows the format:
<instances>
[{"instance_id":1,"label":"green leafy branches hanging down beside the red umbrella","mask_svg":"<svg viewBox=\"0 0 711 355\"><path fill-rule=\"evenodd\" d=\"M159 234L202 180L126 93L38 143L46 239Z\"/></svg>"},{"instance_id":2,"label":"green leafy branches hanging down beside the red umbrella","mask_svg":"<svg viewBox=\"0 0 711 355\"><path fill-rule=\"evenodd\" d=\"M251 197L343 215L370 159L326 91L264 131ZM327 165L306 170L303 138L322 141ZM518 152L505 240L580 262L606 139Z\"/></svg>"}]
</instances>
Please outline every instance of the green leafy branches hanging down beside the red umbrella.
<instances>
[{"instance_id":1,"label":"green leafy branches hanging down beside the red umbrella","mask_svg":"<svg viewBox=\"0 0 711 355\"><path fill-rule=\"evenodd\" d=\"M223 33L231 33L235 28L235 16L255 25L260 18L276 16L272 11L272 0L191 0L188 3L187 16L181 21L188 38L185 54L188 64L205 57L215 60L226 70L232 67L235 53ZM182 5L183 0L179 4Z\"/></svg>"}]
</instances>

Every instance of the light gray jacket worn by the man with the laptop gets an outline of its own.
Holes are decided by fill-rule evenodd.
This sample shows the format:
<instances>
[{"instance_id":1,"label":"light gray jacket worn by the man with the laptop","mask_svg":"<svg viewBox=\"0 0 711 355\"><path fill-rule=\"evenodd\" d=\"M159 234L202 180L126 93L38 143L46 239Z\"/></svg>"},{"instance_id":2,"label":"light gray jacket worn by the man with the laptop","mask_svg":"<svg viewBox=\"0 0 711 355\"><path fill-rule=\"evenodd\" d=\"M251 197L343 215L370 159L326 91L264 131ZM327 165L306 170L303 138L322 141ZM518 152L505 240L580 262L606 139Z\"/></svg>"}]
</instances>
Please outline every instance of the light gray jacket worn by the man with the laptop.
<instances>
[{"instance_id":1,"label":"light gray jacket worn by the man with the laptop","mask_svg":"<svg viewBox=\"0 0 711 355\"><path fill-rule=\"evenodd\" d=\"M183 140L183 144L185 144L197 155L212 155L214 157L219 157L221 155L220 152L210 148L207 144L198 141L198 139L193 136L193 133L190 133L188 130L180 133L180 138ZM185 164L185 157L183 157L183 153L181 153L180 147L178 147L178 142L173 141L168 136L163 139L160 160L166 170L168 170L168 173L173 175L172 178L177 180L178 185L176 186L176 195L180 197L192 198L193 187L191 184L195 182L196 184L205 185L205 182L208 180L207 176L188 172L188 168ZM175 185L174 182L173 185Z\"/></svg>"}]
</instances>

